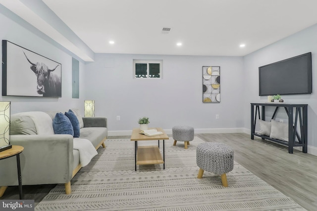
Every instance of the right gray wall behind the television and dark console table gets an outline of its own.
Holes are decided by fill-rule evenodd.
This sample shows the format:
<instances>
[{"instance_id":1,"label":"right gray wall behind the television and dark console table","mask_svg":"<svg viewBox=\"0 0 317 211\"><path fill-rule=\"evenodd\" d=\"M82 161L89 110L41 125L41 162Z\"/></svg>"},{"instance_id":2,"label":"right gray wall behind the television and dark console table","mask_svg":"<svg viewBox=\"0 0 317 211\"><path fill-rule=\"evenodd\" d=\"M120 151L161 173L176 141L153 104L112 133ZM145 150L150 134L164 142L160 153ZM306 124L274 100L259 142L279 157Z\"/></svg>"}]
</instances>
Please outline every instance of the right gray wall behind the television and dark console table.
<instances>
[{"instance_id":1,"label":"right gray wall behind the television and dark console table","mask_svg":"<svg viewBox=\"0 0 317 211\"><path fill-rule=\"evenodd\" d=\"M250 129L251 102L266 102L266 96L259 96L259 67L280 61L286 58L297 56L303 53L312 52L313 66L313 93L300 95L284 95L282 99L286 103L308 104L308 151L317 152L317 25L309 27L281 41L268 45L258 51L244 56L244 127ZM283 83L283 79L281 79ZM270 111L272 113L272 111ZM281 111L277 118L287 119L284 111ZM317 153L315 153L317 154Z\"/></svg>"}]
</instances>

